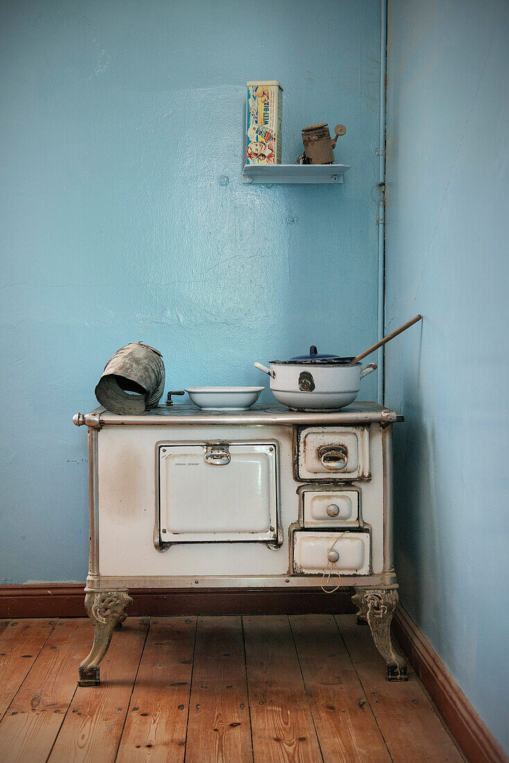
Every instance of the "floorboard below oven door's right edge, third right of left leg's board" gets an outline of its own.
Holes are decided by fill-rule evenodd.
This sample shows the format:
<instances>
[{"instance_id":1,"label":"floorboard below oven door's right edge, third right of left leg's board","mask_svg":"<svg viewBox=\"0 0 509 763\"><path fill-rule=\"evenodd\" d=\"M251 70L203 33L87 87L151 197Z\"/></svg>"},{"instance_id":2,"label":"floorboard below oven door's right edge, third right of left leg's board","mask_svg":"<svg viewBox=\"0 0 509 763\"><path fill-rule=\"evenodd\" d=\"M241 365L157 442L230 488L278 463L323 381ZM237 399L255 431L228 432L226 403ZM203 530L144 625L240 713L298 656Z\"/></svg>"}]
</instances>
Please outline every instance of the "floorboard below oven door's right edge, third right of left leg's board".
<instances>
[{"instance_id":1,"label":"floorboard below oven door's right edge, third right of left leg's board","mask_svg":"<svg viewBox=\"0 0 509 763\"><path fill-rule=\"evenodd\" d=\"M322 760L288 617L243 617L255 763Z\"/></svg>"}]
</instances>

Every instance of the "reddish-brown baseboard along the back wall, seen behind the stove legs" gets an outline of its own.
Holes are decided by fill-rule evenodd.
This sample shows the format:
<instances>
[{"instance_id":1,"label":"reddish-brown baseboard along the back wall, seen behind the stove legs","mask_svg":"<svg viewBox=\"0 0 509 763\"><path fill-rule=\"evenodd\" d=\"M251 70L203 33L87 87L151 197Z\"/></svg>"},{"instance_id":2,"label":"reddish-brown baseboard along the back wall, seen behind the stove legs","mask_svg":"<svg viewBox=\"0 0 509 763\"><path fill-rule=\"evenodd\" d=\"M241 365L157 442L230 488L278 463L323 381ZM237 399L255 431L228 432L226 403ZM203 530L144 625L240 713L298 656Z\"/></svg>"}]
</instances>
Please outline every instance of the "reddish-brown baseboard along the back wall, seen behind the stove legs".
<instances>
[{"instance_id":1,"label":"reddish-brown baseboard along the back wall, seen behind the stove legs","mask_svg":"<svg viewBox=\"0 0 509 763\"><path fill-rule=\"evenodd\" d=\"M85 617L84 583L0 586L0 617ZM351 614L353 590L130 588L129 614Z\"/></svg>"}]
</instances>

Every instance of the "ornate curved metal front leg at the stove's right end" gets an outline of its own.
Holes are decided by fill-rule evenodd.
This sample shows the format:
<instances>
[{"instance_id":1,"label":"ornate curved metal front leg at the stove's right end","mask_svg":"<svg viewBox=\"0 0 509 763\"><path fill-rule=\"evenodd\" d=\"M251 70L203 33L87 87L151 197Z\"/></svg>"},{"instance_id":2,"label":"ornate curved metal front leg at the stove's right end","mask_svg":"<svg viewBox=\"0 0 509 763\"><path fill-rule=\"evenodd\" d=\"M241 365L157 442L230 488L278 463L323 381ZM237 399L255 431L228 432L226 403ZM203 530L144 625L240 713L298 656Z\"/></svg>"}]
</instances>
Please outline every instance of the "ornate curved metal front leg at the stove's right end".
<instances>
[{"instance_id":1,"label":"ornate curved metal front leg at the stove's right end","mask_svg":"<svg viewBox=\"0 0 509 763\"><path fill-rule=\"evenodd\" d=\"M375 647L387 664L387 681L408 681L407 663L396 652L391 640L391 620L398 604L398 591L395 588L356 588L352 597L359 607L357 617L366 620Z\"/></svg>"}]
</instances>

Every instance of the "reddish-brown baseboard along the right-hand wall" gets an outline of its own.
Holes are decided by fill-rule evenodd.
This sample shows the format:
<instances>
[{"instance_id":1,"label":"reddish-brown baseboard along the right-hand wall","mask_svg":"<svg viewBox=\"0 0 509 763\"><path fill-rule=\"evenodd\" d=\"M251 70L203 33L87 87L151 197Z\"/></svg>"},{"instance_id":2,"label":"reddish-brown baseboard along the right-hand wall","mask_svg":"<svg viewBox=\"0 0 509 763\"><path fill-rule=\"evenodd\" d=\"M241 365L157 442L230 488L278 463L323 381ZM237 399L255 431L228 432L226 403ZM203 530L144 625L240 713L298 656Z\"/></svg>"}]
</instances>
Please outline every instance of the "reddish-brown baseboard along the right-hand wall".
<instances>
[{"instance_id":1,"label":"reddish-brown baseboard along the right-hand wall","mask_svg":"<svg viewBox=\"0 0 509 763\"><path fill-rule=\"evenodd\" d=\"M507 763L507 755L479 718L430 642L401 607L392 621L395 637L429 691L470 763Z\"/></svg>"}]
</instances>

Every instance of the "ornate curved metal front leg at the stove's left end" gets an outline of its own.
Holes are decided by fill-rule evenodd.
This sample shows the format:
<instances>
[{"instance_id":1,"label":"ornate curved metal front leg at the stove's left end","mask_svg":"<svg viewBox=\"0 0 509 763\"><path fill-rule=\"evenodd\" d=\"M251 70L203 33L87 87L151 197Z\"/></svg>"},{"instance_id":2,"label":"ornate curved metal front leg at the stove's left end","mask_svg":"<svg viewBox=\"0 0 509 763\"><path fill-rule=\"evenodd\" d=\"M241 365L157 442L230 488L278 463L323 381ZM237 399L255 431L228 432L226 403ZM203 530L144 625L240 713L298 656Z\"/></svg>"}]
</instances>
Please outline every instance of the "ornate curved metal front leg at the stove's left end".
<instances>
[{"instance_id":1,"label":"ornate curved metal front leg at the stove's left end","mask_svg":"<svg viewBox=\"0 0 509 763\"><path fill-rule=\"evenodd\" d=\"M108 652L111 633L127 617L125 610L133 600L127 591L89 591L85 610L94 623L94 643L88 657L79 666L78 686L98 686L101 683L99 662Z\"/></svg>"}]
</instances>

